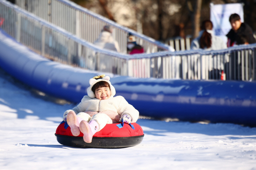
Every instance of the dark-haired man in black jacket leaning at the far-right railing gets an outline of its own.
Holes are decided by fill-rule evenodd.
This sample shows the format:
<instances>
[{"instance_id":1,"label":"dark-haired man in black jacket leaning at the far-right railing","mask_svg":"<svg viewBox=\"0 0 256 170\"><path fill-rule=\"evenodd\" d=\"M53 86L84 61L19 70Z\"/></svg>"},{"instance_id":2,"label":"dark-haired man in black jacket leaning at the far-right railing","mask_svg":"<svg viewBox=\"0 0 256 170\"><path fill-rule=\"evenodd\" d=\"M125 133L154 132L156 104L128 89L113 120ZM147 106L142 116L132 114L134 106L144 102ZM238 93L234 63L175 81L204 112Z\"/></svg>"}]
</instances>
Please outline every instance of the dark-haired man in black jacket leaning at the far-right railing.
<instances>
[{"instance_id":1,"label":"dark-haired man in black jacket leaning at the far-right railing","mask_svg":"<svg viewBox=\"0 0 256 170\"><path fill-rule=\"evenodd\" d=\"M228 47L233 47L236 45L237 40L241 35L244 35L248 38L249 44L256 43L251 27L248 24L241 22L241 18L238 14L231 14L229 17L229 22L232 29L226 35L228 37Z\"/></svg>"}]
</instances>

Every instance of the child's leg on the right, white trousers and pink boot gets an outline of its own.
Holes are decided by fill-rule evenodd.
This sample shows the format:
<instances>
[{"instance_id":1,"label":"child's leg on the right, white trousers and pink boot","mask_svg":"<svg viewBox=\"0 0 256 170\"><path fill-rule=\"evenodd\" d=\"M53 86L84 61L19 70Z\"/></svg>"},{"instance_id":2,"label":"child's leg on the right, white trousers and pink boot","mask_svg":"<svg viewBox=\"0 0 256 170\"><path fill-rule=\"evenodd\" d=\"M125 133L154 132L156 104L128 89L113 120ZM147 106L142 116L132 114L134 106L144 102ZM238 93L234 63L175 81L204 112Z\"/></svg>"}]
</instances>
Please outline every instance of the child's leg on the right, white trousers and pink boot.
<instances>
[{"instance_id":1,"label":"child's leg on the right, white trousers and pink boot","mask_svg":"<svg viewBox=\"0 0 256 170\"><path fill-rule=\"evenodd\" d=\"M87 143L91 143L93 135L100 131L107 123L112 123L112 120L104 113L93 115L89 123L81 121L79 128L83 133L83 140Z\"/></svg>"}]
</instances>

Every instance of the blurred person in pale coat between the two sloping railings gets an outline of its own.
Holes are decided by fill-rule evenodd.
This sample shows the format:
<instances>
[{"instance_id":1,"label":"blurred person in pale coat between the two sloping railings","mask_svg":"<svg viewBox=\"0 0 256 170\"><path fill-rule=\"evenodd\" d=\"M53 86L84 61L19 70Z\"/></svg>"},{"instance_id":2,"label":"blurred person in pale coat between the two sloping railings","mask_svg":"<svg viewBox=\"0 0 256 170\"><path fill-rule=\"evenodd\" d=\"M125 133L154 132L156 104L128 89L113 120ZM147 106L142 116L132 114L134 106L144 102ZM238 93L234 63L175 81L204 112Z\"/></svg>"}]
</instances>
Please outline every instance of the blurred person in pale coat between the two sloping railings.
<instances>
[{"instance_id":1,"label":"blurred person in pale coat between the two sloping railings","mask_svg":"<svg viewBox=\"0 0 256 170\"><path fill-rule=\"evenodd\" d=\"M112 36L113 28L109 25L103 27L99 38L93 44L102 49L120 52L118 42Z\"/></svg>"}]
</instances>

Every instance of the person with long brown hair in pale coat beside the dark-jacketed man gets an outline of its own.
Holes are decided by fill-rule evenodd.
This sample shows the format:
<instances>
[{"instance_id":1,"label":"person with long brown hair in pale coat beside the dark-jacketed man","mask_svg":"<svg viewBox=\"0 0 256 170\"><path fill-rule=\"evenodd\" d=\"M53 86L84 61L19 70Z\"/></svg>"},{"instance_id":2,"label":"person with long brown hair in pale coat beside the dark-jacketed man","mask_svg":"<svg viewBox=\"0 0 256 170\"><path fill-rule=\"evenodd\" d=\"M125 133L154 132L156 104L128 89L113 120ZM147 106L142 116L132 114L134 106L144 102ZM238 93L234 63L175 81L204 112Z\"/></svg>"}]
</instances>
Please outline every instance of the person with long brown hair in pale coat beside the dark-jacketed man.
<instances>
[{"instance_id":1,"label":"person with long brown hair in pale coat beside the dark-jacketed man","mask_svg":"<svg viewBox=\"0 0 256 170\"><path fill-rule=\"evenodd\" d=\"M191 42L191 49L221 50L227 48L221 37L213 34L213 23L210 20L203 21L201 29L199 36Z\"/></svg>"}]
</instances>

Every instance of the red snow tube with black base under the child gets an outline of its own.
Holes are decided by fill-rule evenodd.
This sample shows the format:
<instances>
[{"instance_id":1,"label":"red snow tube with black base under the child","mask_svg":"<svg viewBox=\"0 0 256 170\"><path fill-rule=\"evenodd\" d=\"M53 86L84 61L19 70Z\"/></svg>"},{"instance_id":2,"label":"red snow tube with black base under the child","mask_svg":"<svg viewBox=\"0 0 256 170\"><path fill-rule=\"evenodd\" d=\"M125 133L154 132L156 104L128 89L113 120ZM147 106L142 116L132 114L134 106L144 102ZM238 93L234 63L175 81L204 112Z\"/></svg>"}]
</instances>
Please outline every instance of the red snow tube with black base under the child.
<instances>
[{"instance_id":1,"label":"red snow tube with black base under the child","mask_svg":"<svg viewBox=\"0 0 256 170\"><path fill-rule=\"evenodd\" d=\"M132 128L132 126L134 129ZM55 136L60 144L80 148L124 148L140 144L143 140L143 130L137 123L107 124L93 135L92 143L83 141L83 133L73 136L67 122L62 121L56 129Z\"/></svg>"}]
</instances>

